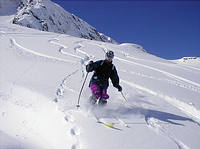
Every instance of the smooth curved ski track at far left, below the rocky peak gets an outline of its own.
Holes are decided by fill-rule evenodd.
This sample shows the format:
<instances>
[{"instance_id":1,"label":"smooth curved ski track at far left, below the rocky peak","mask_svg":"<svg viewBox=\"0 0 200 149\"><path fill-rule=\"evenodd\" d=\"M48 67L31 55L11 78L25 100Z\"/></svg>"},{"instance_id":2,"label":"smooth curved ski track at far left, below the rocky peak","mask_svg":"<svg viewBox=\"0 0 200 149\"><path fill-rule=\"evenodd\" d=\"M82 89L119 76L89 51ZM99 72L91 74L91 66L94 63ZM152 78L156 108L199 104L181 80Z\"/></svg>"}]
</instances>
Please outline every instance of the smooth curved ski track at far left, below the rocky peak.
<instances>
[{"instance_id":1,"label":"smooth curved ski track at far left, below the rocky peak","mask_svg":"<svg viewBox=\"0 0 200 149\"><path fill-rule=\"evenodd\" d=\"M41 57L41 58L46 58L46 59L49 59L49 60L60 61L60 62L67 62L67 63L74 63L75 62L75 61L61 59L61 58L57 58L57 57L53 57L53 56L48 56L48 55L45 55L45 54L41 54L39 52L35 52L34 50L28 49L28 48L20 45L13 38L10 39L10 44L11 44L12 47L16 47L18 49L22 49L23 50L22 52L26 52L26 53L29 53L29 54L32 54L34 56L38 56L38 57Z\"/></svg>"}]
</instances>

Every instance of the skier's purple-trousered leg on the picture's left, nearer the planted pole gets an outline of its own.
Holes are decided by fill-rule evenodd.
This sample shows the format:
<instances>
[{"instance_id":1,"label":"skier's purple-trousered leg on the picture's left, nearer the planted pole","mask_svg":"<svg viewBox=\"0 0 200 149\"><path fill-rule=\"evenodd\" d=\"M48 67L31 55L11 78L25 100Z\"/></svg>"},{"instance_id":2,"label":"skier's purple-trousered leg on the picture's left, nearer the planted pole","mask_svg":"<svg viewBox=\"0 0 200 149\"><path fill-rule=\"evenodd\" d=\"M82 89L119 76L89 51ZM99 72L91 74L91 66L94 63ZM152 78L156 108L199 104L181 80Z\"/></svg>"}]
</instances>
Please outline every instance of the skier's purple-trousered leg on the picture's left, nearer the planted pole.
<instances>
[{"instance_id":1,"label":"skier's purple-trousered leg on the picture's left, nearer the planted pole","mask_svg":"<svg viewBox=\"0 0 200 149\"><path fill-rule=\"evenodd\" d=\"M98 98L101 96L101 91L99 86L95 83L90 84L90 89L92 92L92 96L90 97L90 102L92 104L95 104Z\"/></svg>"}]
</instances>

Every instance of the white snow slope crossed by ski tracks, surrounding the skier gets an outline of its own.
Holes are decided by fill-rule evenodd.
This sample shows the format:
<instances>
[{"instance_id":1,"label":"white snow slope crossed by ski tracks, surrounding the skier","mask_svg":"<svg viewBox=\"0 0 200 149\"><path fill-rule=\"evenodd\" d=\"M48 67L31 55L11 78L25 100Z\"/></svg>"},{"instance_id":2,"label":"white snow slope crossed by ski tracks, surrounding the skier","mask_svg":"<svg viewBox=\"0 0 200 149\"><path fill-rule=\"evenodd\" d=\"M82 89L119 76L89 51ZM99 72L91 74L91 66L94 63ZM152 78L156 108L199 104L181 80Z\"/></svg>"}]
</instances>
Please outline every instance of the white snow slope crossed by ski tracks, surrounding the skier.
<instances>
[{"instance_id":1,"label":"white snow slope crossed by ski tracks, surrounding the skier","mask_svg":"<svg viewBox=\"0 0 200 149\"><path fill-rule=\"evenodd\" d=\"M0 17L0 149L199 149L199 62L24 28L11 18ZM85 65L108 49L127 101L110 84L107 106L90 106L90 73L77 109Z\"/></svg>"}]
</instances>

